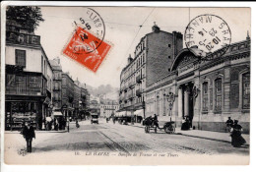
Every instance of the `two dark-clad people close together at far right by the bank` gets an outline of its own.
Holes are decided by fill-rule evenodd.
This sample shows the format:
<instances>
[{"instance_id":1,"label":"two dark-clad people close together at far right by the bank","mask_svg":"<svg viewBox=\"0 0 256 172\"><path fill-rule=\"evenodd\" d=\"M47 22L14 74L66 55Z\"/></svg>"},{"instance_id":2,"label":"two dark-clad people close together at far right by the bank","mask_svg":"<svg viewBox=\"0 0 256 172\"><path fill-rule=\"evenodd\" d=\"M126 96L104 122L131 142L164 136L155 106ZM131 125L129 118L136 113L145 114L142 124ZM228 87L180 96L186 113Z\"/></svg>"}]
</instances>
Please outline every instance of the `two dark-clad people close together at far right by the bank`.
<instances>
[{"instance_id":1,"label":"two dark-clad people close together at far right by the bank","mask_svg":"<svg viewBox=\"0 0 256 172\"><path fill-rule=\"evenodd\" d=\"M242 135L242 126L238 124L238 120L232 120L228 117L225 122L226 130L230 133L231 144L234 147L239 147L242 144L246 143Z\"/></svg>"}]
</instances>

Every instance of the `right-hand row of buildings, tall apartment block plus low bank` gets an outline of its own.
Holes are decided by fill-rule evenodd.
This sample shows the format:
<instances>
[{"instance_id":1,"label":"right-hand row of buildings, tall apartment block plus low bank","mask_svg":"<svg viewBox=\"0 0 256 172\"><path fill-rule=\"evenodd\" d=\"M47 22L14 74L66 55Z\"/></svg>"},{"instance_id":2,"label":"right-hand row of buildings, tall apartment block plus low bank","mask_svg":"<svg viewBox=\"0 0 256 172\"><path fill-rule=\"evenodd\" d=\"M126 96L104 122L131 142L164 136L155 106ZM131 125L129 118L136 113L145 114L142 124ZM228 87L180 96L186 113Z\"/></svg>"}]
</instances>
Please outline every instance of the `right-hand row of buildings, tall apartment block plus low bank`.
<instances>
[{"instance_id":1,"label":"right-hand row of buildings, tall apartment block plus low bank","mask_svg":"<svg viewBox=\"0 0 256 172\"><path fill-rule=\"evenodd\" d=\"M244 132L250 122L250 37L231 43L224 53L200 61L198 48L183 48L180 32L155 25L141 38L120 74L119 112L180 126L188 117L199 130L225 131L227 117Z\"/></svg>"}]
</instances>

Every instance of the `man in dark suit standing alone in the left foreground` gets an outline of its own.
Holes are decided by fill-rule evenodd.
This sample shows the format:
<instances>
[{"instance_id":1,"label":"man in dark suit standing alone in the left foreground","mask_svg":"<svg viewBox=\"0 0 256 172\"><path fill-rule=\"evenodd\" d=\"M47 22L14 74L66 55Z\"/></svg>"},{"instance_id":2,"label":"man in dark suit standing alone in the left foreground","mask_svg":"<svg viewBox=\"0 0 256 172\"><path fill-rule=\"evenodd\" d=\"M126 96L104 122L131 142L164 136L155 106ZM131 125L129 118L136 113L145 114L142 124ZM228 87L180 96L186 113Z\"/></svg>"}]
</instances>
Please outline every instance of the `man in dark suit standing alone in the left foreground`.
<instances>
[{"instance_id":1,"label":"man in dark suit standing alone in the left foreground","mask_svg":"<svg viewBox=\"0 0 256 172\"><path fill-rule=\"evenodd\" d=\"M27 142L27 151L32 152L32 138L35 139L34 129L31 122L26 122L23 129L23 137Z\"/></svg>"}]
</instances>

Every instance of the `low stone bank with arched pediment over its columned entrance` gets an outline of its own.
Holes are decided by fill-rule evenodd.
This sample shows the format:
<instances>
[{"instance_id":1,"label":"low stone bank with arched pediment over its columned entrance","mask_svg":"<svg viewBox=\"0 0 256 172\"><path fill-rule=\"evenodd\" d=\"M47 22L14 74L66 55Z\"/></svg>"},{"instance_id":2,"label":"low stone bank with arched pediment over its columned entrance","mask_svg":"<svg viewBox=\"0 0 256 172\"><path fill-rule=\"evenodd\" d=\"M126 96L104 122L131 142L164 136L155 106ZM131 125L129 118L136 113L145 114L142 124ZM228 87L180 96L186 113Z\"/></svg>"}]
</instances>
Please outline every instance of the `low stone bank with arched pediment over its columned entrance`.
<instances>
[{"instance_id":1,"label":"low stone bank with arched pediment over its columned entrance","mask_svg":"<svg viewBox=\"0 0 256 172\"><path fill-rule=\"evenodd\" d=\"M183 44L182 40L179 41ZM160 46L166 46L165 42L163 43ZM162 69L167 69L165 76L150 85L146 84L141 92L145 104L144 118L157 114L160 123L171 118L175 121L176 127L180 127L182 120L188 117L194 129L224 132L225 121L231 117L239 121L244 133L248 133L250 123L248 33L244 40L231 43L224 54L220 54L223 49L213 52L211 54L213 59L209 61L199 60L197 47L179 49L173 43L176 42L170 39L168 46L176 47L170 50L173 54L170 56L170 63L161 66ZM169 55L160 56L158 61L168 57ZM145 74L152 75L147 72L147 68Z\"/></svg>"}]
</instances>

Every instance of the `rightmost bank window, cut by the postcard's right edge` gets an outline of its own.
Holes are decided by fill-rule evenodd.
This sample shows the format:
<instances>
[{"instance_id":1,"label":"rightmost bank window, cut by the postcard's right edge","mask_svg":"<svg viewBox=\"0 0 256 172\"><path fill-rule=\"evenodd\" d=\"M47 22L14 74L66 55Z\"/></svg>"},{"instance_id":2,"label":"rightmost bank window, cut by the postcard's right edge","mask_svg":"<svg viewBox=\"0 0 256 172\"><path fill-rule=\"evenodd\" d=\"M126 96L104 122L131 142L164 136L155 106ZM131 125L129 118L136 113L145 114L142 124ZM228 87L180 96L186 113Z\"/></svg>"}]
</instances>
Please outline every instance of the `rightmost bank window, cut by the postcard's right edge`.
<instances>
[{"instance_id":1,"label":"rightmost bank window, cut by the postcard's right edge","mask_svg":"<svg viewBox=\"0 0 256 172\"><path fill-rule=\"evenodd\" d=\"M242 108L250 108L250 73L242 75Z\"/></svg>"}]
</instances>

